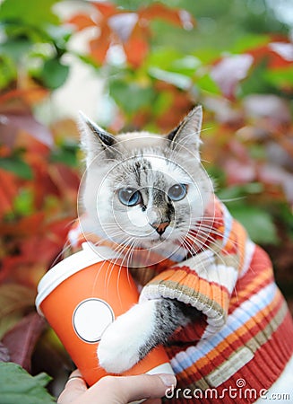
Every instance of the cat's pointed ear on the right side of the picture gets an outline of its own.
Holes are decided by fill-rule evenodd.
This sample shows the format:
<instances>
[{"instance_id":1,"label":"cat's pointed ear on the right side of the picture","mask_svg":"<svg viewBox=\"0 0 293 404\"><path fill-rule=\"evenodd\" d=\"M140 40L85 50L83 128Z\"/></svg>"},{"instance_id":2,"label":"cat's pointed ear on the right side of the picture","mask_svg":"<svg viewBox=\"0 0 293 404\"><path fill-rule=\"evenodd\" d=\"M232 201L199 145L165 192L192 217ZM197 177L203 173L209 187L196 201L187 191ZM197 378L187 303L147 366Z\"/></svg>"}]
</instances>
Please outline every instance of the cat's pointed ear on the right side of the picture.
<instances>
[{"instance_id":1,"label":"cat's pointed ear on the right side of the picture","mask_svg":"<svg viewBox=\"0 0 293 404\"><path fill-rule=\"evenodd\" d=\"M202 143L200 133L202 129L203 109L195 107L183 119L183 121L168 134L170 147L173 150L180 150L181 146L195 153L199 157L199 147Z\"/></svg>"}]
</instances>

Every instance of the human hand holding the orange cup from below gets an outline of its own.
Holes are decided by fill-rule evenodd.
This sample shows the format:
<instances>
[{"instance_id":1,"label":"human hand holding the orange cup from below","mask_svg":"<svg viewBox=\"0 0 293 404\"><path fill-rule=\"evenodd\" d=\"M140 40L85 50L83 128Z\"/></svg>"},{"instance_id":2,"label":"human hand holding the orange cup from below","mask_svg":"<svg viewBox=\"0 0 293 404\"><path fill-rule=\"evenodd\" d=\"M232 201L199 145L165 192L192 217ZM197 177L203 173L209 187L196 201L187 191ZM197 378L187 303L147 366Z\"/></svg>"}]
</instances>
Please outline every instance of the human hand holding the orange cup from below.
<instances>
[{"instance_id":1,"label":"human hand holding the orange cup from below","mask_svg":"<svg viewBox=\"0 0 293 404\"><path fill-rule=\"evenodd\" d=\"M172 374L140 374L138 376L106 376L90 388L75 370L59 396L58 404L127 404L145 399L145 403L157 404L169 389L176 386ZM157 400L152 400L157 399Z\"/></svg>"}]
</instances>

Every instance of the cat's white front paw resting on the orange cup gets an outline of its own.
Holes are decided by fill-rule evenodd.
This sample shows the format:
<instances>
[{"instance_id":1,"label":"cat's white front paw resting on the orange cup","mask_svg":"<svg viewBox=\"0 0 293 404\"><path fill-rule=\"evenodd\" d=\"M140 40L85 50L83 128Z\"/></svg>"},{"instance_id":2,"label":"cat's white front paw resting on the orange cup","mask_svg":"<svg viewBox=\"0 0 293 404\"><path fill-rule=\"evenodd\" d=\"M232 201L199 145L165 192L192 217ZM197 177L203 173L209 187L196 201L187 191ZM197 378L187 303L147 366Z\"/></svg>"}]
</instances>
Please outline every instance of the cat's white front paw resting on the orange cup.
<instances>
[{"instance_id":1,"label":"cat's white front paw resting on the orange cup","mask_svg":"<svg viewBox=\"0 0 293 404\"><path fill-rule=\"evenodd\" d=\"M135 304L104 331L98 347L99 365L108 373L134 366L150 347L155 327L155 301Z\"/></svg>"}]
</instances>

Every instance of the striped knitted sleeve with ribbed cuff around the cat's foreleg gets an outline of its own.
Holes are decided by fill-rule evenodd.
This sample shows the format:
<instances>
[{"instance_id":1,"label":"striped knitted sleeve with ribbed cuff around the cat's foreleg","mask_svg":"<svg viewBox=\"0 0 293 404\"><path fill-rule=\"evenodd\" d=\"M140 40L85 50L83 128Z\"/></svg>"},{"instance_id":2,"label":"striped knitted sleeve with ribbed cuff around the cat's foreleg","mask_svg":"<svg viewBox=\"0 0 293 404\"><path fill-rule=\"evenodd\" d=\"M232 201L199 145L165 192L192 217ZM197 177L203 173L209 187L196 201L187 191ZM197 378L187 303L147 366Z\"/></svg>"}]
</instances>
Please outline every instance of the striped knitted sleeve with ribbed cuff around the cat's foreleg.
<instances>
[{"instance_id":1,"label":"striped knitted sleeve with ribbed cuff around the cat's foreleg","mask_svg":"<svg viewBox=\"0 0 293 404\"><path fill-rule=\"evenodd\" d=\"M216 242L159 273L142 288L140 301L163 297L190 304L206 316L205 337L214 334L226 322L237 278L249 265L249 250L253 250L253 243L243 227L233 221L224 247Z\"/></svg>"}]
</instances>

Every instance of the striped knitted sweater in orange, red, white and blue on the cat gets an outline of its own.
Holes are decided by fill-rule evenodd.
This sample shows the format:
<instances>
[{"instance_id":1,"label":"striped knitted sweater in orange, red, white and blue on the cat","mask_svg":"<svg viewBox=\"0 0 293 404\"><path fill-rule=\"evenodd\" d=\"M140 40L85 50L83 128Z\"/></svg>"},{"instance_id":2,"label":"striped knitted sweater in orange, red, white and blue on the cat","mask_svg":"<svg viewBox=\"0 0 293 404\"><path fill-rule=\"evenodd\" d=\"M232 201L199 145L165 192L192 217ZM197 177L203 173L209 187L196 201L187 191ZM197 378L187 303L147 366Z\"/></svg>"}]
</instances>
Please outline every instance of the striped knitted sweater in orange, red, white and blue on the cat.
<instances>
[{"instance_id":1,"label":"striped knitted sweater in orange, red, white and blue on the cat","mask_svg":"<svg viewBox=\"0 0 293 404\"><path fill-rule=\"evenodd\" d=\"M289 363L293 323L267 254L219 199L205 214L213 222L209 232L204 220L197 226L206 233L204 240L201 232L197 237L202 245L185 240L193 254L186 250L179 262L163 259L133 275L143 285L141 301L177 299L202 312L200 320L177 329L169 341L177 389L166 400L251 403L265 396ZM83 237L76 227L69 233L75 247Z\"/></svg>"}]
</instances>

